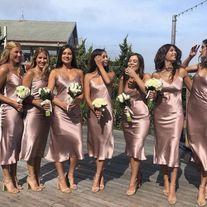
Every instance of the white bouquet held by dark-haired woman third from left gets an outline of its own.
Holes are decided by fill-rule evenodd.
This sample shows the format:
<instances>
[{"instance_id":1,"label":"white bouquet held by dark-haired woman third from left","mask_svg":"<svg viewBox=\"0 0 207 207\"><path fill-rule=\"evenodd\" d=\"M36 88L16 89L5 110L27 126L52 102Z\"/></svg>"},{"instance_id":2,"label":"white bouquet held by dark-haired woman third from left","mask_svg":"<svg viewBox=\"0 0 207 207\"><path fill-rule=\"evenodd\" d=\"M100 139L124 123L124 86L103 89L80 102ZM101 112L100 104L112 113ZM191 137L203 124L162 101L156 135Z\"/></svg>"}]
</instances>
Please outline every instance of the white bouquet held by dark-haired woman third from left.
<instances>
[{"instance_id":1,"label":"white bouquet held by dark-haired woman third from left","mask_svg":"<svg viewBox=\"0 0 207 207\"><path fill-rule=\"evenodd\" d=\"M82 86L78 82L70 83L67 87L68 96L66 98L66 103L69 105L82 93Z\"/></svg>"}]
</instances>

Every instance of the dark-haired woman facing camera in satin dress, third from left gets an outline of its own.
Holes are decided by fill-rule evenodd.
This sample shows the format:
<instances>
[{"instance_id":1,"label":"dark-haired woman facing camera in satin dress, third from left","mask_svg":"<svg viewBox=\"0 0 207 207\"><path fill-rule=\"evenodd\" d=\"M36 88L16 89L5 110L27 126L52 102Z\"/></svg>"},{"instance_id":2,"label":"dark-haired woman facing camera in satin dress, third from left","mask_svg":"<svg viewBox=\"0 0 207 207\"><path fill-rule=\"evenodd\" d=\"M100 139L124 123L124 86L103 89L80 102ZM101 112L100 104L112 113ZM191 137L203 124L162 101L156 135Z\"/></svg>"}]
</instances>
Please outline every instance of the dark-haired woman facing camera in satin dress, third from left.
<instances>
[{"instance_id":1,"label":"dark-haired woman facing camera in satin dress, third from left","mask_svg":"<svg viewBox=\"0 0 207 207\"><path fill-rule=\"evenodd\" d=\"M53 99L54 112L51 120L49 150L46 159L54 161L58 174L58 189L69 193L77 189L74 171L77 160L83 159L82 125L80 103L83 93L68 103L68 85L79 83L83 87L83 72L77 69L73 49L69 45L60 48L56 69L49 76L48 88L57 95ZM63 161L70 161L68 173L64 175ZM68 186L68 182L70 188Z\"/></svg>"}]
</instances>

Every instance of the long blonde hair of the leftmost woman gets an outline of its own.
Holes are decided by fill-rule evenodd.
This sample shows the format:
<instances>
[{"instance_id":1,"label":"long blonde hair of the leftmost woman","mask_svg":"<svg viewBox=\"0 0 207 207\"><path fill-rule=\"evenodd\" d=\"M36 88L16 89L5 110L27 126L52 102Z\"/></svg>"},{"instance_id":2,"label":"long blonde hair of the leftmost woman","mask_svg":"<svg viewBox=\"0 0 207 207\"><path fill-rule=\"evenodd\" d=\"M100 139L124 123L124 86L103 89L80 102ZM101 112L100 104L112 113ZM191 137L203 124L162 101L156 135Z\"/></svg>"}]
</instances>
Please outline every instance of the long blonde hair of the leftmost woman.
<instances>
[{"instance_id":1,"label":"long blonde hair of the leftmost woman","mask_svg":"<svg viewBox=\"0 0 207 207\"><path fill-rule=\"evenodd\" d=\"M4 48L3 52L1 53L0 65L3 65L5 63L9 62L10 51L15 47L18 47L21 49L20 43L10 41L6 44L6 47Z\"/></svg>"}]
</instances>

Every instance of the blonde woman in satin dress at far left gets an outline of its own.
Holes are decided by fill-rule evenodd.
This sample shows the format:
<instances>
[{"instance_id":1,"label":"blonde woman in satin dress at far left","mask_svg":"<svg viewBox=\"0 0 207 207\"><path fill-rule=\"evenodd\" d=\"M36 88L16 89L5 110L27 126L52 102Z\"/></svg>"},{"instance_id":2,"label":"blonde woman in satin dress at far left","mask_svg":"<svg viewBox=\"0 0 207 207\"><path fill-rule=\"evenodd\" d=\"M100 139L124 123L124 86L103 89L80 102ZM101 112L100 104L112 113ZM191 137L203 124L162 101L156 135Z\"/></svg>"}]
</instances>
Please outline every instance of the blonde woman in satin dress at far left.
<instances>
[{"instance_id":1,"label":"blonde woman in satin dress at far left","mask_svg":"<svg viewBox=\"0 0 207 207\"><path fill-rule=\"evenodd\" d=\"M22 104L17 103L15 90L22 84L20 63L21 46L17 42L8 42L0 59L0 102L1 137L0 163L3 170L3 190L18 193L21 187L17 183L17 161L23 132Z\"/></svg>"}]
</instances>

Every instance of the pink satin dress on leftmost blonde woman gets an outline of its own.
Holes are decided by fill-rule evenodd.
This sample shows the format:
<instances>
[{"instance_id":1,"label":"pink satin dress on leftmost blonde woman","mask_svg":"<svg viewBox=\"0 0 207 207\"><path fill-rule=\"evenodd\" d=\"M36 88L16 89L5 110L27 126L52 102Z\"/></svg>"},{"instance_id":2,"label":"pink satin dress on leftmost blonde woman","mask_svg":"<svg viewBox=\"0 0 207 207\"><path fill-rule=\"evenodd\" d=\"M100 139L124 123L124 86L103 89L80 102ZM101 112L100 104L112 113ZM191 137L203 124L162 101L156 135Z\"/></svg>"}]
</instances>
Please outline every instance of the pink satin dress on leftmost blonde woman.
<instances>
[{"instance_id":1,"label":"pink satin dress on leftmost blonde woman","mask_svg":"<svg viewBox=\"0 0 207 207\"><path fill-rule=\"evenodd\" d=\"M4 96L16 100L16 87L22 84L22 78L9 73L3 88ZM19 160L23 132L22 113L8 104L1 105L0 164L10 165Z\"/></svg>"}]
</instances>

